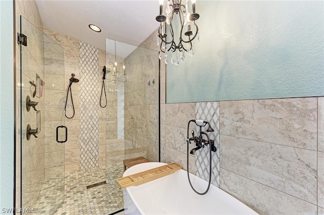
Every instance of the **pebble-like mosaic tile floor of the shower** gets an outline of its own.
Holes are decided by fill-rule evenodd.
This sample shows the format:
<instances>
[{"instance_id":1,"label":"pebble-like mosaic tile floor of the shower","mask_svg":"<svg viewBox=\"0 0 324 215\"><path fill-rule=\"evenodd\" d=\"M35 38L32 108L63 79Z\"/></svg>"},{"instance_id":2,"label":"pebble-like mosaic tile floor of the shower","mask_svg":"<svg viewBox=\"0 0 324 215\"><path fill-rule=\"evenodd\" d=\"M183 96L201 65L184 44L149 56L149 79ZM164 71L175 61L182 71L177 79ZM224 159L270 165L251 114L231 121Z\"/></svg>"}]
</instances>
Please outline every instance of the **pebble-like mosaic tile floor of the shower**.
<instances>
[{"instance_id":1,"label":"pebble-like mosaic tile floor of the shower","mask_svg":"<svg viewBox=\"0 0 324 215\"><path fill-rule=\"evenodd\" d=\"M65 176L64 201L54 212L57 215L90 215L110 214L124 208L123 190L120 190L115 179L123 176L123 162L70 173ZM106 177L105 177L106 175ZM107 184L87 189L88 185L105 181ZM51 207L57 204L58 193L55 183L60 180L47 180L41 191L37 204L37 214L51 214ZM61 186L62 187L62 186ZM52 210L55 210L54 208ZM117 213L117 214L123 214Z\"/></svg>"}]
</instances>

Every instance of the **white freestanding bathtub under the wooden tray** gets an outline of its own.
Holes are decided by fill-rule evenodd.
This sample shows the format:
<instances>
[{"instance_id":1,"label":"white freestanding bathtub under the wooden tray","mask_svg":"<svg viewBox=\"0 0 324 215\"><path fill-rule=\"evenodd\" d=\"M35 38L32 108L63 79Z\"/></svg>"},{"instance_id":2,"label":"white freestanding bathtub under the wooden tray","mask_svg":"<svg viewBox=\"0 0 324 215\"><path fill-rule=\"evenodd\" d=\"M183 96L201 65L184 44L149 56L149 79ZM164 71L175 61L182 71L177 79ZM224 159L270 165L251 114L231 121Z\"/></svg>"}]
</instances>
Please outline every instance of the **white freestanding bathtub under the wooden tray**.
<instances>
[{"instance_id":1,"label":"white freestanding bathtub under the wooden tray","mask_svg":"<svg viewBox=\"0 0 324 215\"><path fill-rule=\"evenodd\" d=\"M123 176L163 165L166 164L139 164L126 170ZM204 192L208 186L208 182L193 174L190 180L198 192ZM214 185L207 194L196 194L184 170L124 189L124 204L125 214L258 214Z\"/></svg>"}]
</instances>

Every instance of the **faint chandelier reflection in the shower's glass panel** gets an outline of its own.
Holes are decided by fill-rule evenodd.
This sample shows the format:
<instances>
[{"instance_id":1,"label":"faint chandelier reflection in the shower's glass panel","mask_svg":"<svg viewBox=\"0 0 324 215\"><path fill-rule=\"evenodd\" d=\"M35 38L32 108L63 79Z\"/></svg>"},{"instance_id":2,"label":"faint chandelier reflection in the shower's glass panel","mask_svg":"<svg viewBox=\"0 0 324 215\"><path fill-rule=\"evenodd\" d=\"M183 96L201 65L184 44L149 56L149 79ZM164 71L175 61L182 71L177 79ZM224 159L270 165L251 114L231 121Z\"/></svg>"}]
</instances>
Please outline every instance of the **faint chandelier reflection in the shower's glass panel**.
<instances>
[{"instance_id":1,"label":"faint chandelier reflection in the shower's glass panel","mask_svg":"<svg viewBox=\"0 0 324 215\"><path fill-rule=\"evenodd\" d=\"M116 40L115 40L115 63L109 62L107 67L108 67L108 73L111 73L111 80L107 80L107 82L112 82L117 84L118 82L127 81L126 74L125 74L125 65L123 63L117 63L116 60Z\"/></svg>"}]
</instances>

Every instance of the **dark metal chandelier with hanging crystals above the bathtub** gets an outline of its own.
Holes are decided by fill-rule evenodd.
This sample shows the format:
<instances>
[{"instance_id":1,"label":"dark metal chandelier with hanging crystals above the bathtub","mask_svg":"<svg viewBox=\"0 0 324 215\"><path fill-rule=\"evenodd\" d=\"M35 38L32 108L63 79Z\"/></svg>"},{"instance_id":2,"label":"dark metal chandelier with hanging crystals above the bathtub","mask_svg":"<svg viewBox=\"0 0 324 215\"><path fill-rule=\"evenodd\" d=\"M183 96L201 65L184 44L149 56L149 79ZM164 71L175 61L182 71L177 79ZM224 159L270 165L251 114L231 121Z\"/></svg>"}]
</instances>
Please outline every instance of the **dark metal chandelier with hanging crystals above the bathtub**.
<instances>
[{"instance_id":1,"label":"dark metal chandelier with hanging crystals above the bathtub","mask_svg":"<svg viewBox=\"0 0 324 215\"><path fill-rule=\"evenodd\" d=\"M161 60L161 53L164 53L165 63L168 64L168 55L171 52L170 62L171 64L178 66L180 62L184 61L185 52L188 52L188 55L191 57L194 56L192 40L197 37L199 41L198 26L195 23L195 20L199 18L199 14L197 14L195 10L196 0L191 0L191 14L188 11L188 0L168 0L165 10L166 16L163 15L163 2L164 0L159 0L160 14L155 18L156 21L160 23L157 37L157 45L160 45L158 58ZM179 42L177 41L178 43L175 42L174 31L172 27L174 15L179 15L181 24ZM169 37L167 37L167 32L170 32ZM161 40L161 43L159 43L159 39ZM186 43L186 45L184 43Z\"/></svg>"}]
</instances>

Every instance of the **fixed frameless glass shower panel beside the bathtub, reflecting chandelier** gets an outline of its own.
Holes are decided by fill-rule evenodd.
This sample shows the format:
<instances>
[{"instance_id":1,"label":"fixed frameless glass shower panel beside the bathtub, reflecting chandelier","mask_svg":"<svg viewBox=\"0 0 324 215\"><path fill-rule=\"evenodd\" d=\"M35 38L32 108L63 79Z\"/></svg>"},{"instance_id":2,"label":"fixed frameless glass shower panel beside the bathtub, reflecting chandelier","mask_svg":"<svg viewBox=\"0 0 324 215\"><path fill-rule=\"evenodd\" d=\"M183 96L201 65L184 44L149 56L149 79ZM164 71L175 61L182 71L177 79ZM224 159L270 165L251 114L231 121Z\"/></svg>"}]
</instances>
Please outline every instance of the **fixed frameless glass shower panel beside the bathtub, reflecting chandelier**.
<instances>
[{"instance_id":1,"label":"fixed frameless glass shower panel beside the bathtub, reflecting chandelier","mask_svg":"<svg viewBox=\"0 0 324 215\"><path fill-rule=\"evenodd\" d=\"M120 67L114 68L114 62ZM158 51L106 39L106 68L110 71L106 75L106 208L110 214L128 209L115 182L123 176L123 160L143 156L159 161Z\"/></svg>"}]
</instances>

